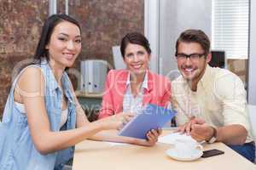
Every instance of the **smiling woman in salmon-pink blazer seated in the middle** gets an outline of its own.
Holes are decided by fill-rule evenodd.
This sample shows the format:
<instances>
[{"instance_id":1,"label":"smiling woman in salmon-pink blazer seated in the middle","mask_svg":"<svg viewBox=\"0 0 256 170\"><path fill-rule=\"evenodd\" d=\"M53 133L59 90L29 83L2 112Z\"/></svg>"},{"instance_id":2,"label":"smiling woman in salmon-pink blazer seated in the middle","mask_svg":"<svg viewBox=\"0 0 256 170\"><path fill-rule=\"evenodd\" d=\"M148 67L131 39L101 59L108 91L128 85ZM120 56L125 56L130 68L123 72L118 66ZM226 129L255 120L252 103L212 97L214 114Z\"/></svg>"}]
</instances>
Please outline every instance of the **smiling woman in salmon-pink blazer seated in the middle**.
<instances>
[{"instance_id":1,"label":"smiling woman in salmon-pink blazer seated in the middle","mask_svg":"<svg viewBox=\"0 0 256 170\"><path fill-rule=\"evenodd\" d=\"M151 49L146 37L137 32L125 35L121 54L127 69L108 72L99 118L119 113L140 113L144 105L167 106L171 84L166 77L149 71Z\"/></svg>"}]
</instances>

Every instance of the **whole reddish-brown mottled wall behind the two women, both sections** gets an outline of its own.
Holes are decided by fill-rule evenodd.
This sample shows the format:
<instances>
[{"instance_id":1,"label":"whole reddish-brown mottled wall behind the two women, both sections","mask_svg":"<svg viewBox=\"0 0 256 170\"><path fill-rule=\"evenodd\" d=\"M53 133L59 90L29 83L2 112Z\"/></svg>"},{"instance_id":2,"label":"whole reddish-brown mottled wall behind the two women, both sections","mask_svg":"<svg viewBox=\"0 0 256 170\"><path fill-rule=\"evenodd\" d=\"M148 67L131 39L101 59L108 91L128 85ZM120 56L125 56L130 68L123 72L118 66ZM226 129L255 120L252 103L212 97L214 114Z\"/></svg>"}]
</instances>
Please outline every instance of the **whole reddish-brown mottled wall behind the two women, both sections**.
<instances>
[{"instance_id":1,"label":"whole reddish-brown mottled wall behind the two women, both sections","mask_svg":"<svg viewBox=\"0 0 256 170\"><path fill-rule=\"evenodd\" d=\"M58 13L65 0L58 0ZM113 65L112 46L129 31L144 30L143 0L69 0L69 14L82 26L82 59L105 59ZM48 16L47 0L0 0L0 117L17 63L34 54ZM73 79L74 84L76 80ZM74 86L77 88L77 85Z\"/></svg>"}]
</instances>

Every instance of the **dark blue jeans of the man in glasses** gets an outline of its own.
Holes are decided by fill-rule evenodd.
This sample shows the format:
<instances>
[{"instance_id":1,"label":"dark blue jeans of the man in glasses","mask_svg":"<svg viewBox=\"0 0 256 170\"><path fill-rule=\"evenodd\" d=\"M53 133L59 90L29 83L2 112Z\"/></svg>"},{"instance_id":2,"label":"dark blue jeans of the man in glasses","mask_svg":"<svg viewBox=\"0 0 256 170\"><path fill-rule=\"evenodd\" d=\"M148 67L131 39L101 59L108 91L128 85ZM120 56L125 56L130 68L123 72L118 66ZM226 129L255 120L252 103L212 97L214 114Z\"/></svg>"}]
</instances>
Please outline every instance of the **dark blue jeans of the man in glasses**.
<instances>
[{"instance_id":1,"label":"dark blue jeans of the man in glasses","mask_svg":"<svg viewBox=\"0 0 256 170\"><path fill-rule=\"evenodd\" d=\"M255 159L255 144L254 142L242 144L242 145L229 145L228 146L239 153L241 156L247 158L247 160L254 162Z\"/></svg>"}]
</instances>

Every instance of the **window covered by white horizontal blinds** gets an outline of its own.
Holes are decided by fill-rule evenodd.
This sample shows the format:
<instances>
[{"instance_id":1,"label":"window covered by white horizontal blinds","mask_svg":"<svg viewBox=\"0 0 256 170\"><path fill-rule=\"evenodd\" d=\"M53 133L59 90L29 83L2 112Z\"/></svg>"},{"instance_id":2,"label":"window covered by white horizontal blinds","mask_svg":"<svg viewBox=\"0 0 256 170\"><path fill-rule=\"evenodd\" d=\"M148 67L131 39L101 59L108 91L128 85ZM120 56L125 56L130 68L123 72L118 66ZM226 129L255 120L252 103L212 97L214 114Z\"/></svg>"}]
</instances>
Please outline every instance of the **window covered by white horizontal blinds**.
<instances>
[{"instance_id":1,"label":"window covered by white horizontal blinds","mask_svg":"<svg viewBox=\"0 0 256 170\"><path fill-rule=\"evenodd\" d=\"M247 59L249 0L212 0L212 49Z\"/></svg>"}]
</instances>

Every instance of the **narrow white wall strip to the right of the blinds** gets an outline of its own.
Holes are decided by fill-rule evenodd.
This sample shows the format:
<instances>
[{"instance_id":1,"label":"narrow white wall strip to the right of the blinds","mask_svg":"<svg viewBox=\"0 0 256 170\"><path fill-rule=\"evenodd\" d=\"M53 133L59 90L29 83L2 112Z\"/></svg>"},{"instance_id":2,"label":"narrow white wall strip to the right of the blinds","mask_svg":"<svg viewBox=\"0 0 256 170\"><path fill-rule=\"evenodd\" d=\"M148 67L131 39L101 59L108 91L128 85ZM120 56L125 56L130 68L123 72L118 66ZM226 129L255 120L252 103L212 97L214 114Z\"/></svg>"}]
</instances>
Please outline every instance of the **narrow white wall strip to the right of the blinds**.
<instances>
[{"instance_id":1,"label":"narrow white wall strip to the right of the blinds","mask_svg":"<svg viewBox=\"0 0 256 170\"><path fill-rule=\"evenodd\" d=\"M256 105L256 1L251 0L250 7L250 42L249 42L249 66L248 66L248 103ZM253 10L254 9L254 10Z\"/></svg>"}]
</instances>

